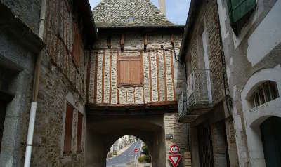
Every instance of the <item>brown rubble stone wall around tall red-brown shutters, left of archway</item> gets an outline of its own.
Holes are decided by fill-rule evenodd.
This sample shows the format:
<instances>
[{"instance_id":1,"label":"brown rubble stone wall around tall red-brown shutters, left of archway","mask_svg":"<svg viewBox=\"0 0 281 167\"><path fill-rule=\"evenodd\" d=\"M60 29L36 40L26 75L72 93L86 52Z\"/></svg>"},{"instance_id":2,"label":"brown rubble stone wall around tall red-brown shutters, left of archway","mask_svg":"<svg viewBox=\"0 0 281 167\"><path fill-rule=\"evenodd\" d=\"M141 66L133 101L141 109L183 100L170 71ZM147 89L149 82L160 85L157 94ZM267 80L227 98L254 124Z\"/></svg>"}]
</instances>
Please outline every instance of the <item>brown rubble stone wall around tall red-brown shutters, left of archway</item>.
<instances>
[{"instance_id":1,"label":"brown rubble stone wall around tall red-brown shutters, left of archway","mask_svg":"<svg viewBox=\"0 0 281 167\"><path fill-rule=\"evenodd\" d=\"M58 67L51 62L48 54L41 63L37 115L34 126L31 166L84 166L84 135L82 132L82 152L77 152L78 112L84 114L85 100ZM72 153L63 153L66 102L74 107L72 122ZM29 112L23 115L21 142L27 140ZM84 114L83 126L86 126ZM25 145L20 149L24 161Z\"/></svg>"}]
</instances>

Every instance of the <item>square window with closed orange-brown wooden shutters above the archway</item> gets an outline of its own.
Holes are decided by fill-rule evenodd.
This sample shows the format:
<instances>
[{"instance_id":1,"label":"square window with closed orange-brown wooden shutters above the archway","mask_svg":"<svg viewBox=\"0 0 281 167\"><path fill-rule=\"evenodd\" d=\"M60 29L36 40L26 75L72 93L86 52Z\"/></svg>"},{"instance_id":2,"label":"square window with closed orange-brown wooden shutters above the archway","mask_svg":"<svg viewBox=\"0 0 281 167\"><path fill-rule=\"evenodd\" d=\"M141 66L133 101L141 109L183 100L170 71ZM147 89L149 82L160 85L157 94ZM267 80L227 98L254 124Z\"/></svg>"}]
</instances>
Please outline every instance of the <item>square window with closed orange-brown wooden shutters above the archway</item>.
<instances>
[{"instance_id":1,"label":"square window with closed orange-brown wooden shutters above the archway","mask_svg":"<svg viewBox=\"0 0 281 167\"><path fill-rule=\"evenodd\" d=\"M123 56L118 60L118 86L143 86L141 56Z\"/></svg>"}]
</instances>

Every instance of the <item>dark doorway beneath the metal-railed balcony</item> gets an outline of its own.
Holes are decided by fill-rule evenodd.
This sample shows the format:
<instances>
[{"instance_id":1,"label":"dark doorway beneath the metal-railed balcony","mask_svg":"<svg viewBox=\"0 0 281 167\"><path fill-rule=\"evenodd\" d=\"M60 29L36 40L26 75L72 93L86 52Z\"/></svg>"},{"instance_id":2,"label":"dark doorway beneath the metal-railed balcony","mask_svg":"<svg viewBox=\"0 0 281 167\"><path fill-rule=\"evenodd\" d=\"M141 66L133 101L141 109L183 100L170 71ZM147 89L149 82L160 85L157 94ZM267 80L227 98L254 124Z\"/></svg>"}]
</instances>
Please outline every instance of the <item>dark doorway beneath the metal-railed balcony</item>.
<instances>
[{"instance_id":1,"label":"dark doorway beneath the metal-railed balcony","mask_svg":"<svg viewBox=\"0 0 281 167\"><path fill-rule=\"evenodd\" d=\"M204 123L197 127L200 167L214 167L211 126Z\"/></svg>"}]
</instances>

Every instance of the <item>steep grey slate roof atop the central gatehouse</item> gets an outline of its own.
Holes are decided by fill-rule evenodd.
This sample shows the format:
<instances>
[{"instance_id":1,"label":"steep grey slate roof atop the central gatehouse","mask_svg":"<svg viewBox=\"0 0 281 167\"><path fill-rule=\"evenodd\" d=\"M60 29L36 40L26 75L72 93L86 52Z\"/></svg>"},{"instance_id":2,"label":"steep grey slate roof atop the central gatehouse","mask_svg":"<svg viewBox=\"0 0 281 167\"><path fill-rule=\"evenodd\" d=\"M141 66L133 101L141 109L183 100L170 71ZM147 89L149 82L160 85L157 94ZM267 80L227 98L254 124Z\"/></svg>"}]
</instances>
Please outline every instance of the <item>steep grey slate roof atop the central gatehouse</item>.
<instances>
[{"instance_id":1,"label":"steep grey slate roof atop the central gatehouse","mask_svg":"<svg viewBox=\"0 0 281 167\"><path fill-rule=\"evenodd\" d=\"M133 17L133 22L129 22ZM173 27L150 0L102 0L93 8L96 27Z\"/></svg>"}]
</instances>

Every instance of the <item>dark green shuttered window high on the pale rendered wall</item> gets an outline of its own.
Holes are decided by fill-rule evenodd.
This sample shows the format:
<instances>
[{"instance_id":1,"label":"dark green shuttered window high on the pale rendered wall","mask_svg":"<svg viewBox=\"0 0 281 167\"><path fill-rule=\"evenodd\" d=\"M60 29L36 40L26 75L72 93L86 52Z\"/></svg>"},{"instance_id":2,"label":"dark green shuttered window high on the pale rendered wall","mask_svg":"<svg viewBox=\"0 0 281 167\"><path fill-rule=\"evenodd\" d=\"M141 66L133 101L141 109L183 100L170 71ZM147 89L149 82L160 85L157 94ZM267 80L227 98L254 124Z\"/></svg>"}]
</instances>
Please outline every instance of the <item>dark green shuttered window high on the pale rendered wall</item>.
<instances>
[{"instance_id":1,"label":"dark green shuttered window high on the pale rendered wall","mask_svg":"<svg viewBox=\"0 0 281 167\"><path fill-rule=\"evenodd\" d=\"M230 25L235 34L240 34L240 30L255 7L256 0L228 0Z\"/></svg>"}]
</instances>

